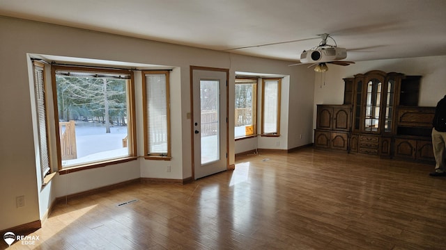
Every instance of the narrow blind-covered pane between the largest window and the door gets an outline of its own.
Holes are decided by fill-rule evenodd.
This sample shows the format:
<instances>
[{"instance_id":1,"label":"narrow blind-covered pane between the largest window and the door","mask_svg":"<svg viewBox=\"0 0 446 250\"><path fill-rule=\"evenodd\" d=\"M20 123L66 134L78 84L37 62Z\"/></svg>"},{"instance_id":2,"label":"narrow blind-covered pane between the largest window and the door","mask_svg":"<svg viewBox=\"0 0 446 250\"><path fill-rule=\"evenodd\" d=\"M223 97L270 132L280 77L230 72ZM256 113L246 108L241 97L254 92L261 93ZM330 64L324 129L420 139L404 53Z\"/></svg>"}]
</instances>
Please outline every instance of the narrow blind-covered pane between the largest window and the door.
<instances>
[{"instance_id":1,"label":"narrow blind-covered pane between the largest window and the door","mask_svg":"<svg viewBox=\"0 0 446 250\"><path fill-rule=\"evenodd\" d=\"M148 155L168 154L166 74L146 74Z\"/></svg>"}]
</instances>

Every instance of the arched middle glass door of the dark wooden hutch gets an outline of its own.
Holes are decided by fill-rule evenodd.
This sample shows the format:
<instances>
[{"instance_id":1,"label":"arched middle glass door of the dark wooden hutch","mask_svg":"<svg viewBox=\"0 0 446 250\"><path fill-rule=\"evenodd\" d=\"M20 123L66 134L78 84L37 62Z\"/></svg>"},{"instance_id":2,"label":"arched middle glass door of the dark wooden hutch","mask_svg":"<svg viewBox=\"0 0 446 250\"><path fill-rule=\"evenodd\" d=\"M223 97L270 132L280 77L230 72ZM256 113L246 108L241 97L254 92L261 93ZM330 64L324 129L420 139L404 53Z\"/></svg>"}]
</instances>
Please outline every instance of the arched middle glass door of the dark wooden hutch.
<instances>
[{"instance_id":1,"label":"arched middle glass door of the dark wooden hutch","mask_svg":"<svg viewBox=\"0 0 446 250\"><path fill-rule=\"evenodd\" d=\"M379 111L382 85L373 78L367 83L364 131L379 132Z\"/></svg>"}]
</instances>

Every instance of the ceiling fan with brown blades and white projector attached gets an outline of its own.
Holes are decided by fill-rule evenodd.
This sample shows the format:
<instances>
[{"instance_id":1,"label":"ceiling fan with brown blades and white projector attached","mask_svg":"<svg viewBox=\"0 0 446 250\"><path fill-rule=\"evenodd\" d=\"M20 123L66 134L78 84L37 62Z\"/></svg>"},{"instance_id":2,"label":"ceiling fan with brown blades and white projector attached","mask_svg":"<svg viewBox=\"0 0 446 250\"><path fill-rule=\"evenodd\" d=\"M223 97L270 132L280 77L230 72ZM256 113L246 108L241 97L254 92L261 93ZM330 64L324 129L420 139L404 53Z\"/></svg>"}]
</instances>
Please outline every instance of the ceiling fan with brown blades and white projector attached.
<instances>
[{"instance_id":1,"label":"ceiling fan with brown blades and white projector attached","mask_svg":"<svg viewBox=\"0 0 446 250\"><path fill-rule=\"evenodd\" d=\"M322 39L318 46L309 50L304 50L300 54L300 63L296 63L289 66L302 65L312 63L309 67L314 67L315 72L326 72L328 70L328 63L334 65L347 66L351 65L352 61L344 61L342 59L347 58L347 50L345 48L337 47L336 41L327 33L319 35ZM327 40L330 38L333 40L334 45L328 44Z\"/></svg>"}]
</instances>

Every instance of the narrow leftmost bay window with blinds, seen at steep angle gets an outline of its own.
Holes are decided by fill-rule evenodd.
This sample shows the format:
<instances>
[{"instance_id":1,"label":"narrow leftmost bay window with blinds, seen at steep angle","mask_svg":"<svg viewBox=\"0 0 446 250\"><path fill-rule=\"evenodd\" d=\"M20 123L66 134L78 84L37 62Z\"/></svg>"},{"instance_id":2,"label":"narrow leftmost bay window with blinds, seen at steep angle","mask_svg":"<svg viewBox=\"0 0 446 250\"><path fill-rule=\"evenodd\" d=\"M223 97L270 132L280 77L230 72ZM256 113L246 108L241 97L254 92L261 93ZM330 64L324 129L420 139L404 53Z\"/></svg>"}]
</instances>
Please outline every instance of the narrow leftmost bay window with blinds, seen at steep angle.
<instances>
[{"instance_id":1,"label":"narrow leftmost bay window with blinds, seen at steep angle","mask_svg":"<svg viewBox=\"0 0 446 250\"><path fill-rule=\"evenodd\" d=\"M45 103L45 67L41 63L33 62L34 91L36 93L36 109L38 117L38 139L40 153L40 168L43 178L51 172L49 166L49 142L47 133L47 109Z\"/></svg>"}]
</instances>

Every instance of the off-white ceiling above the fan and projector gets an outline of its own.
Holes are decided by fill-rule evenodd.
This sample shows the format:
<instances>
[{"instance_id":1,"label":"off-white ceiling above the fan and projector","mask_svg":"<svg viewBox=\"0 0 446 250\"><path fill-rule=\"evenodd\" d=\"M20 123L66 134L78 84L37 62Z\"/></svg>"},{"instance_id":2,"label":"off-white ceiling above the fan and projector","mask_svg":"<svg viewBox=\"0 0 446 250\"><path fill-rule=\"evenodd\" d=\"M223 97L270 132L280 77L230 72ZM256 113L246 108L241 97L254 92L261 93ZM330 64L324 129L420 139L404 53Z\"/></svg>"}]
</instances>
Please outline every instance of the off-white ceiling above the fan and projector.
<instances>
[{"instance_id":1,"label":"off-white ceiling above the fan and projector","mask_svg":"<svg viewBox=\"0 0 446 250\"><path fill-rule=\"evenodd\" d=\"M0 0L0 15L293 61L322 33L346 60L446 55L445 0Z\"/></svg>"}]
</instances>

